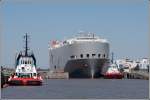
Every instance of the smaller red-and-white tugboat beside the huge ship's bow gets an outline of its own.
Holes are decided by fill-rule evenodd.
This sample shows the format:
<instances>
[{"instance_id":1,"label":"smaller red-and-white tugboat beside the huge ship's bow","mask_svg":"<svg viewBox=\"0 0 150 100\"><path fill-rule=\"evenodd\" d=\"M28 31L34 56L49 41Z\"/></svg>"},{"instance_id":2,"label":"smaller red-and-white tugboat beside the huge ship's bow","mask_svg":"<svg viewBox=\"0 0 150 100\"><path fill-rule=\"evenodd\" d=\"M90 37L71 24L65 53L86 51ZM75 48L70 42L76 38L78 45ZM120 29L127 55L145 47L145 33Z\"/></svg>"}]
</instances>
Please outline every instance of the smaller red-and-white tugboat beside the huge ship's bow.
<instances>
[{"instance_id":1,"label":"smaller red-and-white tugboat beside the huge ship's bow","mask_svg":"<svg viewBox=\"0 0 150 100\"><path fill-rule=\"evenodd\" d=\"M108 66L108 70L104 74L104 78L122 79L123 74L119 71L116 64L111 64L110 66Z\"/></svg>"}]
</instances>

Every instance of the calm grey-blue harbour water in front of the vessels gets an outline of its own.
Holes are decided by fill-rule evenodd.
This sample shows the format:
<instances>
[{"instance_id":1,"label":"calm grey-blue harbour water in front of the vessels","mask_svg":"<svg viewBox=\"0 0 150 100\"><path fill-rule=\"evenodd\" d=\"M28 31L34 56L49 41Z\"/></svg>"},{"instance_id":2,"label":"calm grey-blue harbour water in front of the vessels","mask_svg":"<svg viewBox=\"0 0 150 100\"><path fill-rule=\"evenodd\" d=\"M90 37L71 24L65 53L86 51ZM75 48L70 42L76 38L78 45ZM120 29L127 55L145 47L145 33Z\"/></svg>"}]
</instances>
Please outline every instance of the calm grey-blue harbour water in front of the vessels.
<instances>
[{"instance_id":1,"label":"calm grey-blue harbour water in front of the vessels","mask_svg":"<svg viewBox=\"0 0 150 100\"><path fill-rule=\"evenodd\" d=\"M149 81L140 79L49 79L42 86L9 86L3 99L145 99Z\"/></svg>"}]
</instances>

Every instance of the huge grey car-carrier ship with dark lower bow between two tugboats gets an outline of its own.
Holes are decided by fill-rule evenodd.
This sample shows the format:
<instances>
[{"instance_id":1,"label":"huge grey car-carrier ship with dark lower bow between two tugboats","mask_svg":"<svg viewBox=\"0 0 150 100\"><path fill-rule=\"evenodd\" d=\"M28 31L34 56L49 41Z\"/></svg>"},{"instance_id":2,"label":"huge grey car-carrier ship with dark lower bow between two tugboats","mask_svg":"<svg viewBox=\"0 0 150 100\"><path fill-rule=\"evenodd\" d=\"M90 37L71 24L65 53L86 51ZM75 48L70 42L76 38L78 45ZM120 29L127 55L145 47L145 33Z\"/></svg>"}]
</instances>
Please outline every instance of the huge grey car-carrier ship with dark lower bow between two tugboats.
<instances>
[{"instance_id":1,"label":"huge grey car-carrier ship with dark lower bow between two tugboats","mask_svg":"<svg viewBox=\"0 0 150 100\"><path fill-rule=\"evenodd\" d=\"M64 70L73 78L100 77L109 62L109 42L94 33L79 33L64 41L51 41L50 69Z\"/></svg>"}]
</instances>

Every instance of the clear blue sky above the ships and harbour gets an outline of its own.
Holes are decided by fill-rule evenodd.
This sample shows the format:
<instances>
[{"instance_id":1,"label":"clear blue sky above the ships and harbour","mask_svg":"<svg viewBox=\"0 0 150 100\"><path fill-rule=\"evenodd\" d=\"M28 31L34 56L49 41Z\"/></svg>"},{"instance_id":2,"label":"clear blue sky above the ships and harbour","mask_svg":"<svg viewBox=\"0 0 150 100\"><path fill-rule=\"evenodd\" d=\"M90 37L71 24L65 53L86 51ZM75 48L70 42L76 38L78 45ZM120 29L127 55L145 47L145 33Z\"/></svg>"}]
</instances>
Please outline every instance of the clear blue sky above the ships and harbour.
<instances>
[{"instance_id":1,"label":"clear blue sky above the ships and harbour","mask_svg":"<svg viewBox=\"0 0 150 100\"><path fill-rule=\"evenodd\" d=\"M2 0L1 65L14 67L23 35L40 68L49 67L48 43L94 32L110 42L115 59L148 57L148 0Z\"/></svg>"}]
</instances>

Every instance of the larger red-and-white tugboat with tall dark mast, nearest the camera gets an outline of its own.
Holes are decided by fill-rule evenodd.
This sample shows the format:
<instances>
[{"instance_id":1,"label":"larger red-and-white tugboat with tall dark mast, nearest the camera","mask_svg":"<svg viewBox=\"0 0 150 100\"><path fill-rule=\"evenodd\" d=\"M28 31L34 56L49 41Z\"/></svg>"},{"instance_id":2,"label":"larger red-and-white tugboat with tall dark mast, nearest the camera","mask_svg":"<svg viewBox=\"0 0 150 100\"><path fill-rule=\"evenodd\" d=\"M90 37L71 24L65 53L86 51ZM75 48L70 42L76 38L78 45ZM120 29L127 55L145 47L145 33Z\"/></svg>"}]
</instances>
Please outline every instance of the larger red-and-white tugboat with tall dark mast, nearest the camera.
<instances>
[{"instance_id":1,"label":"larger red-and-white tugboat with tall dark mast, nearest the camera","mask_svg":"<svg viewBox=\"0 0 150 100\"><path fill-rule=\"evenodd\" d=\"M25 51L16 57L16 70L8 79L9 85L42 85L42 78L37 74L36 59L33 53L28 53L28 35L25 38Z\"/></svg>"}]
</instances>

